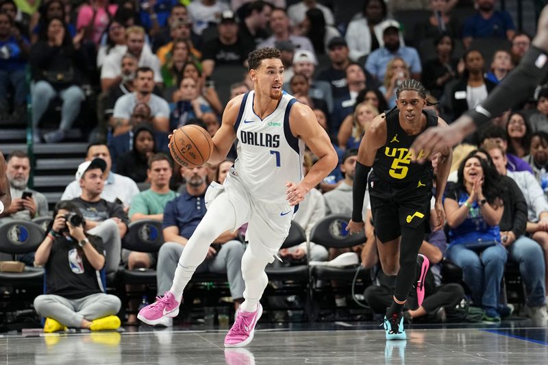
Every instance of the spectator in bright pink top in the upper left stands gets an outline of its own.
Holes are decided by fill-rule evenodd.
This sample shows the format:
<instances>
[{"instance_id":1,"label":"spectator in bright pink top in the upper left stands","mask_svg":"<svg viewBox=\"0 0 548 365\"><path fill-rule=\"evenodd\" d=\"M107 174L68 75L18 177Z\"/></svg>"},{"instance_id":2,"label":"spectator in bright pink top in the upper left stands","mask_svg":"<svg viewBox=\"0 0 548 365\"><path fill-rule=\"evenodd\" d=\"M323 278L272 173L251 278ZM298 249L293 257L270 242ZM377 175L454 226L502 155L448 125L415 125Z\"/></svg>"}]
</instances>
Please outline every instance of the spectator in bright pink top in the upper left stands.
<instances>
[{"instance_id":1,"label":"spectator in bright pink top in the upper left stands","mask_svg":"<svg viewBox=\"0 0 548 365\"><path fill-rule=\"evenodd\" d=\"M90 0L89 4L80 6L78 10L76 29L84 29L84 39L91 40L97 47L116 10L118 5L111 4L109 0Z\"/></svg>"}]
</instances>

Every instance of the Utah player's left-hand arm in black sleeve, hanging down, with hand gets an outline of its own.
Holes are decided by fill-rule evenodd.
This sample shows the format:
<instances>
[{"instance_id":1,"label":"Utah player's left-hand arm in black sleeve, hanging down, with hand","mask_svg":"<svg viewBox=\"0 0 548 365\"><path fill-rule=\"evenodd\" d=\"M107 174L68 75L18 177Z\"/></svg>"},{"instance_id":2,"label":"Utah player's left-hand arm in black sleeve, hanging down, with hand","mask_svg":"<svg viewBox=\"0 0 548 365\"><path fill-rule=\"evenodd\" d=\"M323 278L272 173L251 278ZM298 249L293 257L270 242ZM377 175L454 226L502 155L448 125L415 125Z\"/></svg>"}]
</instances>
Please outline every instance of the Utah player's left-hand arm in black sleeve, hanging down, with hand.
<instances>
[{"instance_id":1,"label":"Utah player's left-hand arm in black sleeve, hanging down, with hand","mask_svg":"<svg viewBox=\"0 0 548 365\"><path fill-rule=\"evenodd\" d=\"M367 129L356 161L356 175L352 188L352 219L347 225L350 234L358 233L364 227L362 210L364 205L365 190L367 188L367 176L375 162L377 149L386 142L386 118L383 114L375 116L371 126Z\"/></svg>"}]
</instances>

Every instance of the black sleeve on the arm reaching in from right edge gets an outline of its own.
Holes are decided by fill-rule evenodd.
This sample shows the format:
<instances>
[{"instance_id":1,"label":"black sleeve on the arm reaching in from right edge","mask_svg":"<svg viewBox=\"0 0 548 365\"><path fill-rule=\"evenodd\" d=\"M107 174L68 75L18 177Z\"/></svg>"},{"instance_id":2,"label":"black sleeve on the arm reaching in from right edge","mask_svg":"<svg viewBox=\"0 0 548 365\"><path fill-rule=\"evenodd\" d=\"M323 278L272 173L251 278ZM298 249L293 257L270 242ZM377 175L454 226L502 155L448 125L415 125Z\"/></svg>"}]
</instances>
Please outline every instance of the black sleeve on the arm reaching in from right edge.
<instances>
[{"instance_id":1,"label":"black sleeve on the arm reaching in from right edge","mask_svg":"<svg viewBox=\"0 0 548 365\"><path fill-rule=\"evenodd\" d=\"M547 74L547 53L531 46L516 69L504 77L487 99L465 114L472 118L478 128L482 127L491 118L531 97Z\"/></svg>"}]
</instances>

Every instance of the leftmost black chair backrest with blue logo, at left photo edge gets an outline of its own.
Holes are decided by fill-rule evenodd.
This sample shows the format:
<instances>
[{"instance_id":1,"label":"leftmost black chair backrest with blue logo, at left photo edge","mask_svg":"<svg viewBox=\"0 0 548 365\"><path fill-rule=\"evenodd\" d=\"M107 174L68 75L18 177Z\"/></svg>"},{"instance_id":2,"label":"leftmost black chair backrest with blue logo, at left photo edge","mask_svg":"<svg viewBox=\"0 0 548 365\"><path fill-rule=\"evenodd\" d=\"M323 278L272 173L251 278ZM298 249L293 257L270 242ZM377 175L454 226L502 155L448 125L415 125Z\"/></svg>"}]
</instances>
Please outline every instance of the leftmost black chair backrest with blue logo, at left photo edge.
<instances>
[{"instance_id":1,"label":"leftmost black chair backrest with blue logo, at left photo edge","mask_svg":"<svg viewBox=\"0 0 548 365\"><path fill-rule=\"evenodd\" d=\"M18 219L0 225L0 252L29 253L38 249L45 238L45 230L40 225Z\"/></svg>"}]
</instances>

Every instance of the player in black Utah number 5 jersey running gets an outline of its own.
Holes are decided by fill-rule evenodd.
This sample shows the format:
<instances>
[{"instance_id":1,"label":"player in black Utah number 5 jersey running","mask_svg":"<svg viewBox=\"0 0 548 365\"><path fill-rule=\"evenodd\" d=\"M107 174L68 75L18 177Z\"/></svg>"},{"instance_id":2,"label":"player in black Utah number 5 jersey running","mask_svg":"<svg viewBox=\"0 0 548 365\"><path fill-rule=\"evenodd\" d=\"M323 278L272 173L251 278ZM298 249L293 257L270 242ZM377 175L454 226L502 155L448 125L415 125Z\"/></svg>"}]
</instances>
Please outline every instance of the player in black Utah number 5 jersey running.
<instances>
[{"instance_id":1,"label":"player in black Utah number 5 jersey running","mask_svg":"<svg viewBox=\"0 0 548 365\"><path fill-rule=\"evenodd\" d=\"M423 278L428 262L426 257L417 255L430 228L433 172L429 160L425 164L412 163L412 160L440 153L434 206L435 229L440 229L445 221L443 190L452 159L450 148L421 150L418 155L412 155L410 147L416 136L428 127L447 127L447 124L432 110L424 109L427 105L426 90L419 81L406 79L397 88L396 95L397 107L375 117L360 143L353 184L352 219L347 227L350 234L363 229L362 206L369 186L382 270L386 275L397 274L394 300L384 322L387 340L406 338L401 310L408 295L410 309L419 307L424 298ZM373 171L368 182L371 168ZM417 266L419 273L416 273ZM416 291L410 294L414 281L417 282Z\"/></svg>"}]
</instances>

